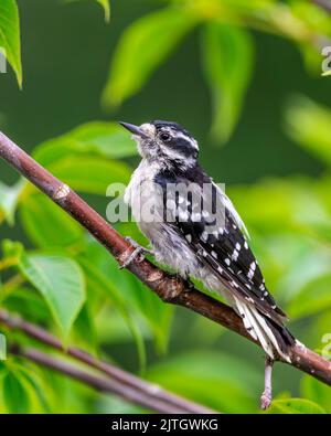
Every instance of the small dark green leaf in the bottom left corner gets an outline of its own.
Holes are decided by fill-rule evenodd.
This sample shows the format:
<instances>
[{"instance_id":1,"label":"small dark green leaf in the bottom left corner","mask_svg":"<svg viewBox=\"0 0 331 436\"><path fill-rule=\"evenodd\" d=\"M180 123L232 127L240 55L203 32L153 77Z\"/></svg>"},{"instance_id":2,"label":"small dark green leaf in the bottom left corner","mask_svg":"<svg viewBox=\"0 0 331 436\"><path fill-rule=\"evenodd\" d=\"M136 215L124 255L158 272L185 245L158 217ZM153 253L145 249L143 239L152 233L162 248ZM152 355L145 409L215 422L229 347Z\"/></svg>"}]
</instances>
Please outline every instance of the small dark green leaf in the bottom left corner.
<instances>
[{"instance_id":1,"label":"small dark green leaf in the bottom left corner","mask_svg":"<svg viewBox=\"0 0 331 436\"><path fill-rule=\"evenodd\" d=\"M29 413L29 394L13 372L8 372L3 379L3 398L9 413Z\"/></svg>"}]
</instances>

